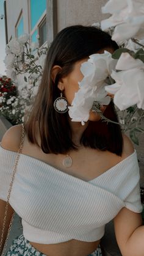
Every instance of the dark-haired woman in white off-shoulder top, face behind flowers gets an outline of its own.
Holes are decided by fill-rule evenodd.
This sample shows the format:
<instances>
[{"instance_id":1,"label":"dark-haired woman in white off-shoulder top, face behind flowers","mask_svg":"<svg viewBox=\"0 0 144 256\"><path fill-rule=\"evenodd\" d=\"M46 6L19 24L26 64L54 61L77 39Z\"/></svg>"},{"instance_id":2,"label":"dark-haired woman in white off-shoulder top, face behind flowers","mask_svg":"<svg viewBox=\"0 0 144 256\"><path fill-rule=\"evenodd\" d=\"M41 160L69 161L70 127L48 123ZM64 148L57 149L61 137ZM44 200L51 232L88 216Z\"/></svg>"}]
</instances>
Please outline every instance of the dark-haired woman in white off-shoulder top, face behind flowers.
<instances>
[{"instance_id":1,"label":"dark-haired woman in white off-shoulder top, face behind flowers","mask_svg":"<svg viewBox=\"0 0 144 256\"><path fill-rule=\"evenodd\" d=\"M101 122L92 111L84 126L71 122L67 106L59 104L63 97L64 105L71 105L90 54L117 48L96 27L66 27L52 42L25 133L22 127L6 227L15 210L23 235L7 255L102 255L99 243L111 219L121 253L144 255L139 167L131 141L119 125ZM112 102L101 111L118 122ZM0 227L20 142L21 125L10 128L1 142Z\"/></svg>"}]
</instances>

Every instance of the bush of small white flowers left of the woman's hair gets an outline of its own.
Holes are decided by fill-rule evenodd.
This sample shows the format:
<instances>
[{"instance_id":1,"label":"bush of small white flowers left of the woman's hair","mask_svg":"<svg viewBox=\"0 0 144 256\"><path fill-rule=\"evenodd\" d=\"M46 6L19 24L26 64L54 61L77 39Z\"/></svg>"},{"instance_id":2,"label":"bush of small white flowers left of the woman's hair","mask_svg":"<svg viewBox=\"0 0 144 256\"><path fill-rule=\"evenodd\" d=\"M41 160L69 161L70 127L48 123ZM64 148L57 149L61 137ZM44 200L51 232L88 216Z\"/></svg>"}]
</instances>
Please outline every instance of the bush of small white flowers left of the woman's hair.
<instances>
[{"instance_id":1,"label":"bush of small white flowers left of the woman's hair","mask_svg":"<svg viewBox=\"0 0 144 256\"><path fill-rule=\"evenodd\" d=\"M6 73L9 81L15 81L17 90L14 95L10 91L2 95L0 113L13 125L23 122L24 113L37 94L48 51L47 47L38 48L28 41L29 35L24 34L18 39L12 38L5 48Z\"/></svg>"}]
</instances>

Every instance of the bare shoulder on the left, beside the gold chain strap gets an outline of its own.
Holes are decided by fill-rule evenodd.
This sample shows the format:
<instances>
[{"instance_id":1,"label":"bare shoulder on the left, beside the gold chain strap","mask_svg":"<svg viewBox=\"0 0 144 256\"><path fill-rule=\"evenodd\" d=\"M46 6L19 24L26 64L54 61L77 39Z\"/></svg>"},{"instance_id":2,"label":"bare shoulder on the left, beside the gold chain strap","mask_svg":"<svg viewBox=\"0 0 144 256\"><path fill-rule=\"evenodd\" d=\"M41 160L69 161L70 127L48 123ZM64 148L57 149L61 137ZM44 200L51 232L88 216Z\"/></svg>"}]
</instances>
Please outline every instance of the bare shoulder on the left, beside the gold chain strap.
<instances>
[{"instance_id":1,"label":"bare shoulder on the left, beside the gold chain strap","mask_svg":"<svg viewBox=\"0 0 144 256\"><path fill-rule=\"evenodd\" d=\"M6 150L18 152L21 142L21 125L9 128L2 137L1 146Z\"/></svg>"}]
</instances>

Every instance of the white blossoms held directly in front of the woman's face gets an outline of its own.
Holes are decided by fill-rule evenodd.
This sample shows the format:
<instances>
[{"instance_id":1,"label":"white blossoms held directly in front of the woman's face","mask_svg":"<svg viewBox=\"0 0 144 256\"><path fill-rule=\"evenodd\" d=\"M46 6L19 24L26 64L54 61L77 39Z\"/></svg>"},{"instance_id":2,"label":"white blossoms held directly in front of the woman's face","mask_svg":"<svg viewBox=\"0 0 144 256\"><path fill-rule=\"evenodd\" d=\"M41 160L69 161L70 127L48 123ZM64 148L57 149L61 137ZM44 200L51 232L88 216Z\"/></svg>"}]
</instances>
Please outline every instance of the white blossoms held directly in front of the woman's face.
<instances>
[{"instance_id":1,"label":"white blossoms held directly in front of the woman's face","mask_svg":"<svg viewBox=\"0 0 144 256\"><path fill-rule=\"evenodd\" d=\"M104 51L103 54L92 54L87 62L81 65L84 78L79 82L79 90L69 108L69 115L73 122L87 122L93 101L109 104L110 97L106 97L104 90L105 79L115 68L117 60L112 59L112 54ZM102 100L103 99L103 100Z\"/></svg>"}]
</instances>

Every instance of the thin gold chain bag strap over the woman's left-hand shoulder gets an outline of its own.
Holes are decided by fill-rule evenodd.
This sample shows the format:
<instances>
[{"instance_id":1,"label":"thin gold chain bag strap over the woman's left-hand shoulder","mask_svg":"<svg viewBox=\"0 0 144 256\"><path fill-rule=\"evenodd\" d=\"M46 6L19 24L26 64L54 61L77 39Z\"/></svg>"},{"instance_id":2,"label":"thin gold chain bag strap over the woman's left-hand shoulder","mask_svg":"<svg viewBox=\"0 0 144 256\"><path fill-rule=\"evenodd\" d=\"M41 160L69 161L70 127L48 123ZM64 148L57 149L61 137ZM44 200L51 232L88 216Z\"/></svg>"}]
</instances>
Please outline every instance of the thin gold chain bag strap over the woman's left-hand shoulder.
<instances>
[{"instance_id":1,"label":"thin gold chain bag strap over the woman's left-hand shoulder","mask_svg":"<svg viewBox=\"0 0 144 256\"><path fill-rule=\"evenodd\" d=\"M16 168L18 166L18 160L20 158L20 154L22 152L23 143L24 143L24 124L23 123L21 124L21 128L22 128L21 144L20 144L20 148L19 148L18 153L17 153L16 158L15 158L15 164L13 166L12 177L11 177L10 186L9 186L9 192L8 192L8 196L7 196L7 203L6 203L6 206L5 206L4 222L3 222L3 225L2 225L2 233L1 233L1 241L0 241L0 252L1 252L2 243L3 243L3 240L4 240L4 230L5 230L5 223L6 223L6 219L7 219L7 211L8 211L8 207L9 207L10 193L12 191L12 185L13 185L13 180L15 178L15 172L16 172ZM12 218L10 220L10 225L9 225L9 229L8 229L8 232L7 232L7 238L5 240L4 248L3 248L2 254L1 254L2 256L4 255L5 248L7 246L7 240L9 238L10 230L11 230L11 227L12 227L12 222L13 222L14 214L15 213L13 213Z\"/></svg>"}]
</instances>

